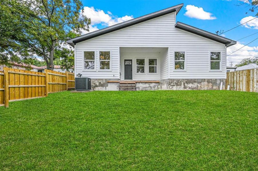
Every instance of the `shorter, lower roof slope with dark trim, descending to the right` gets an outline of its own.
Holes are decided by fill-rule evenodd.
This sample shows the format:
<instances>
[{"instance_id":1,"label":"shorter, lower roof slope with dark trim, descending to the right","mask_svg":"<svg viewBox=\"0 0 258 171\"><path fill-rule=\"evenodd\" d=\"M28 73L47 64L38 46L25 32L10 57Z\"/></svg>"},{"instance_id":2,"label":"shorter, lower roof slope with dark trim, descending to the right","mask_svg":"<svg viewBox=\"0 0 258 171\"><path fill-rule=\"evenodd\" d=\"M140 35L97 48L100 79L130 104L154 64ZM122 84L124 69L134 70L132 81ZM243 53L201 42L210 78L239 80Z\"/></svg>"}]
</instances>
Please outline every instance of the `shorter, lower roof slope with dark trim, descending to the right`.
<instances>
[{"instance_id":1,"label":"shorter, lower roof slope with dark trim, descending to the right","mask_svg":"<svg viewBox=\"0 0 258 171\"><path fill-rule=\"evenodd\" d=\"M237 42L234 41L234 40L219 36L217 34L213 34L211 32L207 32L207 31L202 30L200 28L192 27L190 25L187 25L187 24L184 24L184 23L181 23L181 22L177 22L175 24L175 27L179 28L179 29L182 29L182 30L185 30L185 31L188 31L188 32L191 32L191 33L194 33L194 34L197 34L199 36L203 36L205 38L209 38L209 39L214 40L216 42L223 43L227 47L232 46L234 44L237 44Z\"/></svg>"}]
</instances>

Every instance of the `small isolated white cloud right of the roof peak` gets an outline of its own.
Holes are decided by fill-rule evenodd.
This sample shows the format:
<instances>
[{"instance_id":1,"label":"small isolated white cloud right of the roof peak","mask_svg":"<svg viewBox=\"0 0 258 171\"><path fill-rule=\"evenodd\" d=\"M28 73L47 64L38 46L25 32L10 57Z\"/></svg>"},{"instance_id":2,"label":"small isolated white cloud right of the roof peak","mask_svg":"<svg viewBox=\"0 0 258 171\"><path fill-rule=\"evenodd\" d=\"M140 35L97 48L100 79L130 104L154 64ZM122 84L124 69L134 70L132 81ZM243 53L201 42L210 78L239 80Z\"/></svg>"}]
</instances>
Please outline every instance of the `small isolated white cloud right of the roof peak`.
<instances>
[{"instance_id":1,"label":"small isolated white cloud right of the roof peak","mask_svg":"<svg viewBox=\"0 0 258 171\"><path fill-rule=\"evenodd\" d=\"M195 19L201 20L214 20L216 17L213 17L212 13L208 13L203 10L202 7L196 7L194 5L186 5L185 7L186 12L184 13L185 16Z\"/></svg>"}]
</instances>

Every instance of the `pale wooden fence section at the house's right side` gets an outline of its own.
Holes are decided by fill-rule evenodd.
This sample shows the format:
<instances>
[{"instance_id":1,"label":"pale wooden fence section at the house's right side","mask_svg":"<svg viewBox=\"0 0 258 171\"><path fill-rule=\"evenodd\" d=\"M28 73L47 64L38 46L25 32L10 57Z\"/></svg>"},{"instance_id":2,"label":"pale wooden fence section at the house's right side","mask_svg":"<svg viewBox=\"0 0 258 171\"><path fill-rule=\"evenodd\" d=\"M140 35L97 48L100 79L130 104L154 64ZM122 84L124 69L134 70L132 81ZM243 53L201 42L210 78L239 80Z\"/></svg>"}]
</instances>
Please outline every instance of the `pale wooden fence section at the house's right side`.
<instances>
[{"instance_id":1,"label":"pale wooden fence section at the house's right side","mask_svg":"<svg viewBox=\"0 0 258 171\"><path fill-rule=\"evenodd\" d=\"M226 89L258 92L258 69L227 72Z\"/></svg>"}]
</instances>

